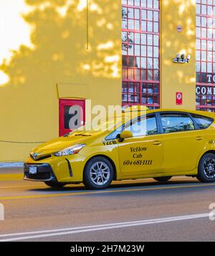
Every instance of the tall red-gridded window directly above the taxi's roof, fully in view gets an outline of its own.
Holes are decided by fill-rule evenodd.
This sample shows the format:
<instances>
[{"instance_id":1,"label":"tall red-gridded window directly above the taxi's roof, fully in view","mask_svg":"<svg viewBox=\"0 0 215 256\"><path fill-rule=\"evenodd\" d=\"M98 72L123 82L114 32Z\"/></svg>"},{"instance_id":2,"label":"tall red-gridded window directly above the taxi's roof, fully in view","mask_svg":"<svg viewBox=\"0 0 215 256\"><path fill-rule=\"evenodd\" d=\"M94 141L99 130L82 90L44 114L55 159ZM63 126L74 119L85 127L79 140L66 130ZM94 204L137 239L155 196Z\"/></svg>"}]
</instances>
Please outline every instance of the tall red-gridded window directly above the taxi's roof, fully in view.
<instances>
[{"instance_id":1,"label":"tall red-gridded window directly above the taxi's roof, fully in view","mask_svg":"<svg viewBox=\"0 0 215 256\"><path fill-rule=\"evenodd\" d=\"M122 4L123 105L159 108L159 1Z\"/></svg>"}]
</instances>

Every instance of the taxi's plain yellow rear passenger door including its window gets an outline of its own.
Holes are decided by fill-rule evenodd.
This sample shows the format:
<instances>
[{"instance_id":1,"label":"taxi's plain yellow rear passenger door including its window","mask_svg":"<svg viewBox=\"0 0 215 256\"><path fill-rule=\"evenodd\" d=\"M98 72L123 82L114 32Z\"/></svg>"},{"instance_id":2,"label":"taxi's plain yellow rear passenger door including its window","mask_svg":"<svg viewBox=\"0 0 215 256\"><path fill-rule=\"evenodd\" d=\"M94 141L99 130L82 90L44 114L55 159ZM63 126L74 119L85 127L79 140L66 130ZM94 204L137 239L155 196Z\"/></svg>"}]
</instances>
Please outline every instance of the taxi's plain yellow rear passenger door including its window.
<instances>
[{"instance_id":1,"label":"taxi's plain yellow rear passenger door including its window","mask_svg":"<svg viewBox=\"0 0 215 256\"><path fill-rule=\"evenodd\" d=\"M183 172L196 167L196 159L204 148L196 123L188 113L160 113L163 133L163 171Z\"/></svg>"}]
</instances>

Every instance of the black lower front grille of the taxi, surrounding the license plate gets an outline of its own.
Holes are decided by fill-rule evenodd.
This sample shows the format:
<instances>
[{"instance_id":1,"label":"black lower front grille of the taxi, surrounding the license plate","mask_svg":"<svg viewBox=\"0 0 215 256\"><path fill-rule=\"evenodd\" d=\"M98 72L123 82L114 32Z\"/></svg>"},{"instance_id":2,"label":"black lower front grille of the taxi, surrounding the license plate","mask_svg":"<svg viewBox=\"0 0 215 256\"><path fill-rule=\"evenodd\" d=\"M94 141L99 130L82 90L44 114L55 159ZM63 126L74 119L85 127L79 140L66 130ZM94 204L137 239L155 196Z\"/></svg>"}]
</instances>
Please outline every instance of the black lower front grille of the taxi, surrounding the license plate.
<instances>
[{"instance_id":1,"label":"black lower front grille of the taxi, surrounding the license plate","mask_svg":"<svg viewBox=\"0 0 215 256\"><path fill-rule=\"evenodd\" d=\"M30 166L37 166L37 174L29 174ZM57 181L49 163L24 163L24 180Z\"/></svg>"}]
</instances>

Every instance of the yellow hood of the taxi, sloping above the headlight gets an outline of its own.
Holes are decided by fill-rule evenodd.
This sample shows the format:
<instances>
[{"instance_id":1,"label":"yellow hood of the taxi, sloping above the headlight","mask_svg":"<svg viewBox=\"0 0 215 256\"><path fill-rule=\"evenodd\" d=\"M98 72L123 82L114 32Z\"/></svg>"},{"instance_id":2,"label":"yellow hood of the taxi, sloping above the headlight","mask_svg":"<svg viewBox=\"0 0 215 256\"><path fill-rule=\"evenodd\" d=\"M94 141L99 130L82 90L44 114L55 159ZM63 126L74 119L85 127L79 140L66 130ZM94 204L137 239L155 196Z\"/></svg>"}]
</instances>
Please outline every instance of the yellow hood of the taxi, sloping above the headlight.
<instances>
[{"instance_id":1,"label":"yellow hood of the taxi, sloping above the headlight","mask_svg":"<svg viewBox=\"0 0 215 256\"><path fill-rule=\"evenodd\" d=\"M62 136L59 138L55 138L51 141L47 141L42 145L34 148L32 153L38 153L39 156L47 155L49 153L55 153L57 151L61 151L62 149L69 148L70 146L74 146L77 144L87 144L88 141L92 138L96 138L97 136L101 136L104 131L96 132L96 131L77 131L66 136Z\"/></svg>"}]
</instances>

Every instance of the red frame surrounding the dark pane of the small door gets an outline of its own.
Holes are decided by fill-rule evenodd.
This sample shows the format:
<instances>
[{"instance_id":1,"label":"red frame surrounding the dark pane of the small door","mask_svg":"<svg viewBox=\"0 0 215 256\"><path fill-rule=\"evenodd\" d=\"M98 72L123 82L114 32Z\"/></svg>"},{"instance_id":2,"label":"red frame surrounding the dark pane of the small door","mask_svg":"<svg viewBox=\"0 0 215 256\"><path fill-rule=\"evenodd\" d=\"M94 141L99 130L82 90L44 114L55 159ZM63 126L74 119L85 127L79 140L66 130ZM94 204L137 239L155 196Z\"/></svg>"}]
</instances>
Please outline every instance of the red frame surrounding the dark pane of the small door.
<instances>
[{"instance_id":1,"label":"red frame surrounding the dark pane of the small door","mask_svg":"<svg viewBox=\"0 0 215 256\"><path fill-rule=\"evenodd\" d=\"M70 133L71 130L65 128L65 106L75 106L78 105L82 107L82 122L85 124L85 100L59 100L59 136L64 136Z\"/></svg>"}]
</instances>

